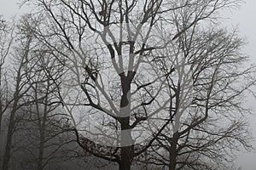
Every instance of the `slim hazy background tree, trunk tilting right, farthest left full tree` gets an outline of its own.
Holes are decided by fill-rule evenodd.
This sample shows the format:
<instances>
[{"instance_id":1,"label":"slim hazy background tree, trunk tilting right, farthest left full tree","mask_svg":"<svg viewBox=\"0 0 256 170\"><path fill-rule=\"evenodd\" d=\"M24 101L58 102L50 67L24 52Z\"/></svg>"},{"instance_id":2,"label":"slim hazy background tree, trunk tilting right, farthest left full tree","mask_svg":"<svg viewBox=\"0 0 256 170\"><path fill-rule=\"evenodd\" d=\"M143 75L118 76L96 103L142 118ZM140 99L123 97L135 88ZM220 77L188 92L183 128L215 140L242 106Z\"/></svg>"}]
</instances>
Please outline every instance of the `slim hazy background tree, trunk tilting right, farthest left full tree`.
<instances>
[{"instance_id":1,"label":"slim hazy background tree, trunk tilting right, farthest left full tree","mask_svg":"<svg viewBox=\"0 0 256 170\"><path fill-rule=\"evenodd\" d=\"M7 125L7 138L5 143L5 151L3 155L3 170L7 170L9 166L9 159L11 156L11 148L12 148L12 139L13 134L15 133L15 126L18 120L16 119L15 115L17 111L20 109L22 105L25 105L27 102L24 103L24 101L27 101L26 99L26 92L31 88L30 86L27 86L28 79L30 77L26 77L29 75L28 73L31 71L32 68L28 67L28 60L29 60L29 51L32 48L32 37L30 35L26 35L26 37L22 37L21 39L17 38L17 43L20 41L20 48L16 46L15 52L13 55L15 55L16 59L14 63L14 86L10 89L14 89L11 94L13 94L13 97L10 99L12 103L10 104L10 112L9 112L9 118L8 118L8 125ZM30 75L32 76L32 75ZM11 79L9 79L11 81ZM9 86L11 84L9 83ZM23 100L24 99L24 100Z\"/></svg>"}]
</instances>

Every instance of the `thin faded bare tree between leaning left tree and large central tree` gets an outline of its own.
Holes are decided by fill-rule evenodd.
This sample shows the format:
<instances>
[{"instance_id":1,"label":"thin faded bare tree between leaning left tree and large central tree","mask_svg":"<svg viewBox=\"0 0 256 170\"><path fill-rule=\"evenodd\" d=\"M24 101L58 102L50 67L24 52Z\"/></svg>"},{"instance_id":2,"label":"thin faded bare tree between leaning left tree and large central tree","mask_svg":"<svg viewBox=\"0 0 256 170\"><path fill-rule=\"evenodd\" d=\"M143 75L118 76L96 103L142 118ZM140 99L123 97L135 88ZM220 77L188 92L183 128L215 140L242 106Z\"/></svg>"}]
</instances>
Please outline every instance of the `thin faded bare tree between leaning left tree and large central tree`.
<instances>
[{"instance_id":1,"label":"thin faded bare tree between leaning left tree and large central tree","mask_svg":"<svg viewBox=\"0 0 256 170\"><path fill-rule=\"evenodd\" d=\"M42 48L41 48L42 50ZM38 59L37 59L38 57ZM52 159L55 152L61 148L61 143L55 143L52 139L58 137L63 133L61 129L61 121L55 122L54 120L60 119L57 115L57 107L60 105L58 99L61 69L56 59L52 59L50 54L45 54L44 51L38 50L35 54L34 59L37 62L37 69L35 70L35 80L31 80L34 99L35 99L35 111L34 113L37 129L38 129L38 170L44 169L48 161ZM56 112L56 113L54 113ZM59 115L60 116L60 115ZM65 116L63 116L65 117ZM51 145L52 143L52 145ZM52 146L56 146L56 148ZM46 149L51 150L49 153L45 153ZM45 156L48 155L48 156Z\"/></svg>"}]
</instances>

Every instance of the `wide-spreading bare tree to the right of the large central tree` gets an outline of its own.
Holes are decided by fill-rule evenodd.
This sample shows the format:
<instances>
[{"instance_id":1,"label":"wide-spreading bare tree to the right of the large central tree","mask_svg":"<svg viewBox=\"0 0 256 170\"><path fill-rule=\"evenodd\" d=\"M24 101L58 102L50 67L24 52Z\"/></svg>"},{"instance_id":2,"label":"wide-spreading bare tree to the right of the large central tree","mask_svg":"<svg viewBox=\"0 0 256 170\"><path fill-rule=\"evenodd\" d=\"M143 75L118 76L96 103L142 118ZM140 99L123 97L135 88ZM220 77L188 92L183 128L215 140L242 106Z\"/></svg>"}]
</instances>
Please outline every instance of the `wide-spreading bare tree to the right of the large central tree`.
<instances>
[{"instance_id":1,"label":"wide-spreading bare tree to the right of the large central tree","mask_svg":"<svg viewBox=\"0 0 256 170\"><path fill-rule=\"evenodd\" d=\"M252 149L243 99L255 85L255 66L241 54L244 42L236 31L191 28L178 39L153 55L166 56L154 58L156 71L176 70L167 77L171 121L138 161L169 169L229 169L235 150Z\"/></svg>"}]
</instances>

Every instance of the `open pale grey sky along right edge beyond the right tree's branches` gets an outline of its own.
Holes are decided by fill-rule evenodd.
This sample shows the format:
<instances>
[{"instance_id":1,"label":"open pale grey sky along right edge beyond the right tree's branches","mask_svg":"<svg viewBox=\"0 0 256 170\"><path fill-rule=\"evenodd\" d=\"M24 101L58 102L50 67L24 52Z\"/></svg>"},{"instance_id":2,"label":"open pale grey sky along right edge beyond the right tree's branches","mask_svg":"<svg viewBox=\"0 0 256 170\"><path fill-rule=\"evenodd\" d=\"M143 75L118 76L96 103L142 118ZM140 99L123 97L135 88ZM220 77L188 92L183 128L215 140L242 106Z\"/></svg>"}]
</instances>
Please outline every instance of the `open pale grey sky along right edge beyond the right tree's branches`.
<instances>
[{"instance_id":1,"label":"open pale grey sky along right edge beyond the right tree's branches","mask_svg":"<svg viewBox=\"0 0 256 170\"><path fill-rule=\"evenodd\" d=\"M256 63L256 1L245 0L241 8L230 14L231 23L233 26L238 26L242 37L247 38L247 47L244 48L244 53L248 54L252 62ZM253 108L253 116L251 116L251 127L253 137L256 138L256 99L249 99L248 104ZM256 148L256 141L253 143ZM256 151L252 154L241 153L237 160L237 164L242 166L244 170L255 170L256 167Z\"/></svg>"}]
</instances>

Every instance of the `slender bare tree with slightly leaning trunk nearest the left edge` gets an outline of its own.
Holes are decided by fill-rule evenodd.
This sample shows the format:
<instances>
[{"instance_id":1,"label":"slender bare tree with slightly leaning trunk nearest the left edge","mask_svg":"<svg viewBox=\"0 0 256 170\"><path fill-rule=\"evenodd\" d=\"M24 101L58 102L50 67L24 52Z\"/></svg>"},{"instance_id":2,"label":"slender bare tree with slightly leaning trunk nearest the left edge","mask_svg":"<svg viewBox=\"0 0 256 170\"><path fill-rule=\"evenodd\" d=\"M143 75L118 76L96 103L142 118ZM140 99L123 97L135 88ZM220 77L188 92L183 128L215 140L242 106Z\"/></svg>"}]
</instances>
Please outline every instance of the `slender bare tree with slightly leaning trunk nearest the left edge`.
<instances>
[{"instance_id":1,"label":"slender bare tree with slightly leaning trunk nearest the left edge","mask_svg":"<svg viewBox=\"0 0 256 170\"><path fill-rule=\"evenodd\" d=\"M4 147L3 154L3 170L7 170L9 168L9 160L11 157L12 151L12 141L15 133L15 127L19 122L18 117L16 117L17 112L23 105L28 105L32 102L32 100L27 96L27 92L31 88L29 85L30 78L33 77L30 74L32 70L32 65L29 65L30 60L30 51L33 47L32 43L32 34L30 34L29 30L21 30L20 33L16 35L15 38L16 44L13 48L13 53L9 54L12 59L13 69L9 70L11 73L8 78L8 86L9 86L9 117L7 123L7 136Z\"/></svg>"}]
</instances>

